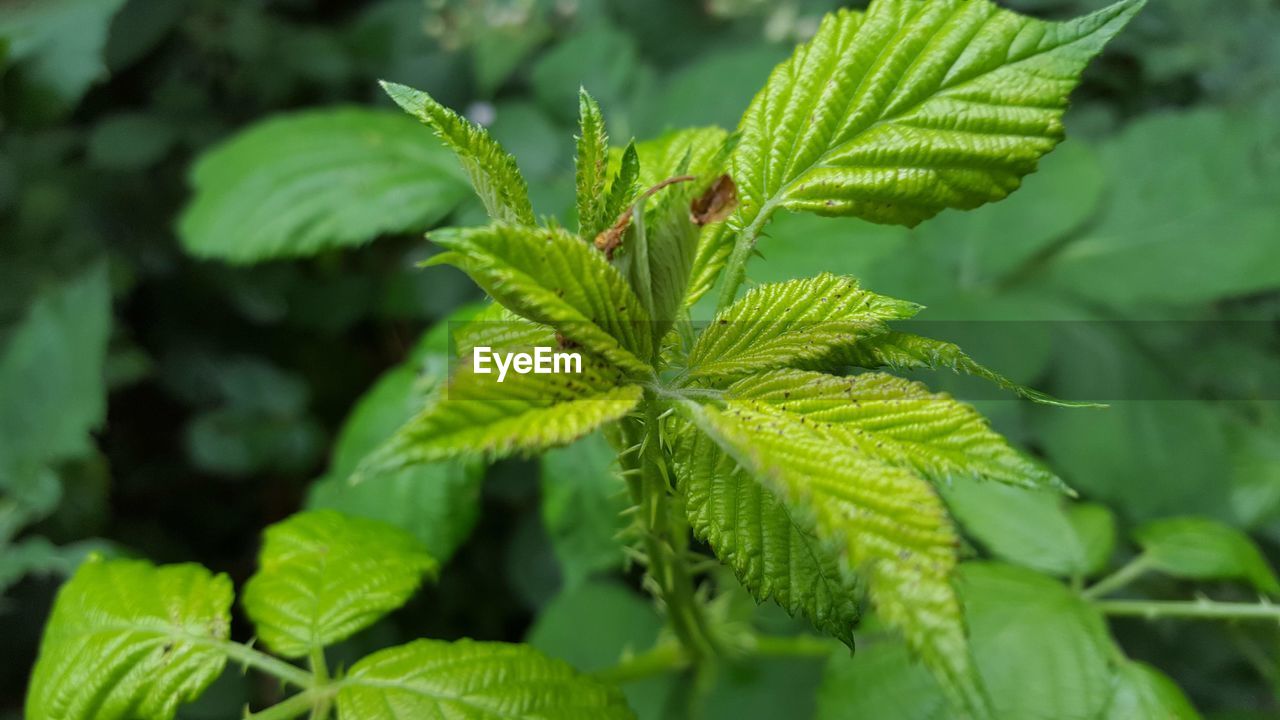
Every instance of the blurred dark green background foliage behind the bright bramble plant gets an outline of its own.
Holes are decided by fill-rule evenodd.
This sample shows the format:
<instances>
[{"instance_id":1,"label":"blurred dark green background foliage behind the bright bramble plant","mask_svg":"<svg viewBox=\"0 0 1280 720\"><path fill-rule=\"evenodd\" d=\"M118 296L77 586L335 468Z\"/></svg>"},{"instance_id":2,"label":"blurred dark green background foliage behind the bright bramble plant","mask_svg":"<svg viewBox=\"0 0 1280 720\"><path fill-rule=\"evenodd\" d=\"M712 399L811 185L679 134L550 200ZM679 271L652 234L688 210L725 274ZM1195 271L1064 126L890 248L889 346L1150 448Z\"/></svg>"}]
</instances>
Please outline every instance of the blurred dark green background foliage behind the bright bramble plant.
<instances>
[{"instance_id":1,"label":"blurred dark green background foliage behind the bright bramble plant","mask_svg":"<svg viewBox=\"0 0 1280 720\"><path fill-rule=\"evenodd\" d=\"M1006 4L1057 18L1103 3ZM623 505L600 438L536 462L343 482L445 373L442 325L422 332L479 299L461 274L415 268L431 252L422 231L483 210L375 81L486 124L538 210L563 217L580 85L616 138L732 128L835 5L0 1L0 717L19 716L52 592L87 552L196 560L241 582L259 530L303 505L388 519L453 555L439 585L349 652L424 633L527 638L598 669L652 644L660 620L617 541ZM750 275L858 275L929 305L924 318L945 331L929 334L1016 380L1112 401L978 400L1089 502L956 487L972 552L1092 575L1134 552L1123 539L1134 527L1193 514L1251 532L1275 557L1280 3L1152 0L1091 68L1069 136L1009 201L914 231L783 217ZM1249 557L1219 575L1271 593L1265 560ZM1087 702L1097 679L1071 667L1103 652L1105 630L1053 588L1019 605L1009 587L1048 580L1002 573L1025 571L966 570L970 600L991 597L974 632L1016 611L1007 621L1034 651L1066 660L1043 676L1016 652L979 657L984 674L1030 698L1023 716L1068 716L1046 703L1062 688ZM791 626L742 597L718 607ZM1111 628L1206 716L1280 712L1272 624ZM829 667L731 667L708 717L936 716L927 678L891 671L901 648L877 643L874 626L861 635L869 650ZM234 717L271 692L229 673L182 716ZM628 688L646 717L680 692L667 679ZM905 696L923 700L893 705Z\"/></svg>"}]
</instances>

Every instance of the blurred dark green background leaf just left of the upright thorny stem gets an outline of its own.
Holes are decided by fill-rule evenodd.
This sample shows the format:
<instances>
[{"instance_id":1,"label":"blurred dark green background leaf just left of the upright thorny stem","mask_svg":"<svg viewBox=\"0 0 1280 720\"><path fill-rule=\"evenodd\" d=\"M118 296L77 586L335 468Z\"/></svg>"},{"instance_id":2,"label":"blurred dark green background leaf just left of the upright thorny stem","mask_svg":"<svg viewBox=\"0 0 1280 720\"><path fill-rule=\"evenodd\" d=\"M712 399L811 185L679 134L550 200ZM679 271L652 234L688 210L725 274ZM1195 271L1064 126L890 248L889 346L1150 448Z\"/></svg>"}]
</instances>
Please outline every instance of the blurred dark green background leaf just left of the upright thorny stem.
<instances>
[{"instance_id":1,"label":"blurred dark green background leaf just left of the upright thorny stem","mask_svg":"<svg viewBox=\"0 0 1280 720\"><path fill-rule=\"evenodd\" d=\"M541 457L543 524L566 585L622 566L618 534L630 502L616 464L617 452L600 433Z\"/></svg>"}]
</instances>

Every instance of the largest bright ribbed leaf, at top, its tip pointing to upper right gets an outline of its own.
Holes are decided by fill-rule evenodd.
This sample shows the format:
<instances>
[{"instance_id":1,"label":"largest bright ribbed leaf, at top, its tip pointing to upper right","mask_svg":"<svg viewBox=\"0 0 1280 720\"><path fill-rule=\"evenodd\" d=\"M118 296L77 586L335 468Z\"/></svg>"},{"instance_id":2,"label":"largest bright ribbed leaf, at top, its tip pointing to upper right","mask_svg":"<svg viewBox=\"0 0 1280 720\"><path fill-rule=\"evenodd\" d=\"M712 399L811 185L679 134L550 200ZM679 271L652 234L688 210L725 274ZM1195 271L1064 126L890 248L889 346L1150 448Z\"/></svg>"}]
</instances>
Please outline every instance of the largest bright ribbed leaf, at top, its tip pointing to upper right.
<instances>
[{"instance_id":1,"label":"largest bright ribbed leaf, at top, its tip pointing to upper right","mask_svg":"<svg viewBox=\"0 0 1280 720\"><path fill-rule=\"evenodd\" d=\"M735 254L780 208L914 225L1005 197L1061 141L1080 73L1142 4L1064 23L988 0L828 15L742 117Z\"/></svg>"}]
</instances>

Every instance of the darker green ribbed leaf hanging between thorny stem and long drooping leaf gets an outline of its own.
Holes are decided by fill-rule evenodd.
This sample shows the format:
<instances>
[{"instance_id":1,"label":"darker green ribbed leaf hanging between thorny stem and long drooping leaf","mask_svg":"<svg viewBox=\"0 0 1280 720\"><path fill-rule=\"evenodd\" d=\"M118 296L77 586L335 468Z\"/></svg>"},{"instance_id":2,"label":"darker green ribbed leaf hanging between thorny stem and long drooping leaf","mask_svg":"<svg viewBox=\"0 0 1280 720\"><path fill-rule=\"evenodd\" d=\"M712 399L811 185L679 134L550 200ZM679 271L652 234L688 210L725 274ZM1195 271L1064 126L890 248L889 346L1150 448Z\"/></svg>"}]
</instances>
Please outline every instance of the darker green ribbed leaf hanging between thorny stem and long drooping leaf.
<instances>
[{"instance_id":1,"label":"darker green ribbed leaf hanging between thorny stem and long drooping leaf","mask_svg":"<svg viewBox=\"0 0 1280 720\"><path fill-rule=\"evenodd\" d=\"M815 534L805 512L788 509L776 491L691 428L678 436L676 477L694 534L753 597L773 598L854 647L860 592L841 569L838 548Z\"/></svg>"}]
</instances>

